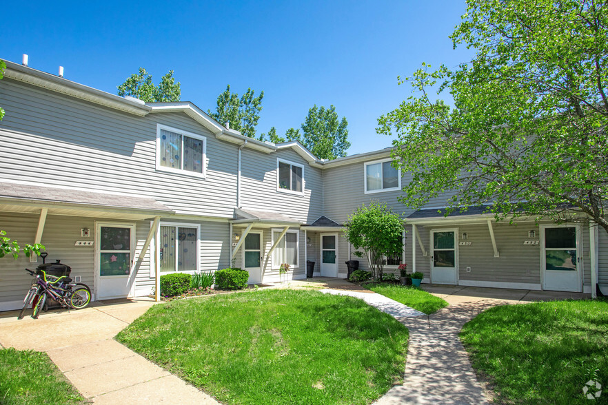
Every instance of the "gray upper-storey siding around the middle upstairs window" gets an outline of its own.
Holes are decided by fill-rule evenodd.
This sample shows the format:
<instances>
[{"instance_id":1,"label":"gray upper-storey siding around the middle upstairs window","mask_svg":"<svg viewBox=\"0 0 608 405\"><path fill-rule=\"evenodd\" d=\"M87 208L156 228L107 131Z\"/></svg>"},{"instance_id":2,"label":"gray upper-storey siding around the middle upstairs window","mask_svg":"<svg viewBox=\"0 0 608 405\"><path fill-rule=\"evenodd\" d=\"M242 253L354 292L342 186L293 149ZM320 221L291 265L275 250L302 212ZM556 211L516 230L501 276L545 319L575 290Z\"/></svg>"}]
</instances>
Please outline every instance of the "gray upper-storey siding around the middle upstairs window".
<instances>
[{"instance_id":1,"label":"gray upper-storey siding around the middle upstairs window","mask_svg":"<svg viewBox=\"0 0 608 405\"><path fill-rule=\"evenodd\" d=\"M276 188L277 158L303 166L303 195L279 191ZM236 159L234 165L236 169ZM243 149L241 206L244 209L276 211L303 223L314 222L323 215L323 172L308 165L292 149L281 149L272 154Z\"/></svg>"}]
</instances>

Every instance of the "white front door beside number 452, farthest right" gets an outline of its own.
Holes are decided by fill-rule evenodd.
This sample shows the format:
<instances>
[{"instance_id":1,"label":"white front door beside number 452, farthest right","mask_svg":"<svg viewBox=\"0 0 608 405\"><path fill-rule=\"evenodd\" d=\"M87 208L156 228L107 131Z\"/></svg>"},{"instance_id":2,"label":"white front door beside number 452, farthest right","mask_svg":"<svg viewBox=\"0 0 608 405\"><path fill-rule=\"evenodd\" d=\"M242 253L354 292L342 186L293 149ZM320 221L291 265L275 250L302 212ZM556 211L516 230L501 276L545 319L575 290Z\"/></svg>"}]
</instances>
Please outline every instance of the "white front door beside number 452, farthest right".
<instances>
[{"instance_id":1,"label":"white front door beside number 452, farthest right","mask_svg":"<svg viewBox=\"0 0 608 405\"><path fill-rule=\"evenodd\" d=\"M578 226L540 228L543 289L580 292Z\"/></svg>"}]
</instances>

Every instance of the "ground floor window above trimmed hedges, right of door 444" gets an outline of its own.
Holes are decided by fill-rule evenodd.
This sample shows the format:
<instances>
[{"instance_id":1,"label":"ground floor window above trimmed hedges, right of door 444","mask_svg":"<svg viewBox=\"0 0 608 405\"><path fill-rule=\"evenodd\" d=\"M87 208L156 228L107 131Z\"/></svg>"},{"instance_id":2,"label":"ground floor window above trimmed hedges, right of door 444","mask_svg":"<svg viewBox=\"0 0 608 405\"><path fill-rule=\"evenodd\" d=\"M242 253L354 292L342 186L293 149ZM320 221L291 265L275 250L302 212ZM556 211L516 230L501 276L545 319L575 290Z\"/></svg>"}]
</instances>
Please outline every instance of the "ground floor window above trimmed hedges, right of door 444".
<instances>
[{"instance_id":1,"label":"ground floor window above trimmed hedges, right of door 444","mask_svg":"<svg viewBox=\"0 0 608 405\"><path fill-rule=\"evenodd\" d=\"M159 264L161 272L197 271L201 229L196 224L161 224Z\"/></svg>"}]
</instances>

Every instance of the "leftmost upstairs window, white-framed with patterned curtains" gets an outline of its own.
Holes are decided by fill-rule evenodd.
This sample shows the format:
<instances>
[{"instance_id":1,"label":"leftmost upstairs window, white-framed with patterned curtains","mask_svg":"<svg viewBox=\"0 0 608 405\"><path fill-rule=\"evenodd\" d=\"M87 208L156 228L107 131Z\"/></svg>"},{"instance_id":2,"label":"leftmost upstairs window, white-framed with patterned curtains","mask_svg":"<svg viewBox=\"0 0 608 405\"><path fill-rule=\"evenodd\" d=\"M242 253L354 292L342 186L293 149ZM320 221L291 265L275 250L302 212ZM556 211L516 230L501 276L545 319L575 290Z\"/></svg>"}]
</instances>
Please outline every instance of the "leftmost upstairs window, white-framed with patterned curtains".
<instances>
[{"instance_id":1,"label":"leftmost upstairs window, white-framed with patterned curtains","mask_svg":"<svg viewBox=\"0 0 608 405\"><path fill-rule=\"evenodd\" d=\"M205 175L205 141L201 135L158 125L156 168L169 172Z\"/></svg>"}]
</instances>

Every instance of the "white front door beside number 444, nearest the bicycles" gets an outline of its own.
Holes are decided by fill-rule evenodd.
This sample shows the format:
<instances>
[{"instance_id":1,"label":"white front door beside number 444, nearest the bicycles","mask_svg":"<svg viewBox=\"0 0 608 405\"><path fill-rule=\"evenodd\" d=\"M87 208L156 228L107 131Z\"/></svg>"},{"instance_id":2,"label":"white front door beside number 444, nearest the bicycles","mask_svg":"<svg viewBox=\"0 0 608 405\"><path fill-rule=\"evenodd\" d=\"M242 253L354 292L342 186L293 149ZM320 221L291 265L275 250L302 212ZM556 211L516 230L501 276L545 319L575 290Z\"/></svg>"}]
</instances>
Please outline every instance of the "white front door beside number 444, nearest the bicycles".
<instances>
[{"instance_id":1,"label":"white front door beside number 444, nearest the bicycles","mask_svg":"<svg viewBox=\"0 0 608 405\"><path fill-rule=\"evenodd\" d=\"M133 287L135 225L98 223L96 237L97 300L127 297Z\"/></svg>"}]
</instances>

